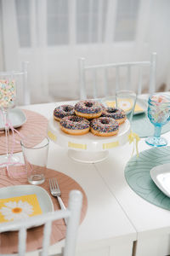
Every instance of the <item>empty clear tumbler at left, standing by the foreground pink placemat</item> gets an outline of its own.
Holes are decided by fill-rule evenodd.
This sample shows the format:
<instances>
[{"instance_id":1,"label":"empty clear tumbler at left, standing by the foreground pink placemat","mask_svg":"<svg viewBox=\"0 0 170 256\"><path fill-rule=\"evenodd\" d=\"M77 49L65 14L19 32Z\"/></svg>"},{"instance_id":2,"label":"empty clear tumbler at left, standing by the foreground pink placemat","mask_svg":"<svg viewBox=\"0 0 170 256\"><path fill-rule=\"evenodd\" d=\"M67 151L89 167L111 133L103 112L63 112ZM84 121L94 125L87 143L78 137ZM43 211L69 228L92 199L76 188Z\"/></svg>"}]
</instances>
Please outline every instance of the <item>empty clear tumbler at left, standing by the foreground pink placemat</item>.
<instances>
[{"instance_id":1,"label":"empty clear tumbler at left, standing by the foreground pink placemat","mask_svg":"<svg viewBox=\"0 0 170 256\"><path fill-rule=\"evenodd\" d=\"M20 144L24 155L28 182L41 184L45 181L48 162L48 137L31 136L23 139Z\"/></svg>"}]
</instances>

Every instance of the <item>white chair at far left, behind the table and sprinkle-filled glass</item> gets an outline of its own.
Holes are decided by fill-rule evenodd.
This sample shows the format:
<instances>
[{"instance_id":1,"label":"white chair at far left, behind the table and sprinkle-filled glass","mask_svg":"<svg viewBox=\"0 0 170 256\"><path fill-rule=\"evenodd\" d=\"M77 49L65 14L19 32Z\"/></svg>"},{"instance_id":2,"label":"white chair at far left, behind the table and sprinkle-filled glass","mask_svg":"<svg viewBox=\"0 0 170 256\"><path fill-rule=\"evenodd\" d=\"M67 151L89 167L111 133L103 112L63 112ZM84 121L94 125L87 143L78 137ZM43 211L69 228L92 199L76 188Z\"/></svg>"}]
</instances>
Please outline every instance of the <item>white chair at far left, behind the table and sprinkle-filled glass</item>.
<instances>
[{"instance_id":1,"label":"white chair at far left, behind the table and sprinkle-filled glass","mask_svg":"<svg viewBox=\"0 0 170 256\"><path fill-rule=\"evenodd\" d=\"M22 62L22 67L20 71L7 71L7 72L0 72L0 79L4 77L12 76L16 83L16 90L17 90L17 104L19 105L30 105L30 92L27 84L27 67L28 61Z\"/></svg>"}]
</instances>

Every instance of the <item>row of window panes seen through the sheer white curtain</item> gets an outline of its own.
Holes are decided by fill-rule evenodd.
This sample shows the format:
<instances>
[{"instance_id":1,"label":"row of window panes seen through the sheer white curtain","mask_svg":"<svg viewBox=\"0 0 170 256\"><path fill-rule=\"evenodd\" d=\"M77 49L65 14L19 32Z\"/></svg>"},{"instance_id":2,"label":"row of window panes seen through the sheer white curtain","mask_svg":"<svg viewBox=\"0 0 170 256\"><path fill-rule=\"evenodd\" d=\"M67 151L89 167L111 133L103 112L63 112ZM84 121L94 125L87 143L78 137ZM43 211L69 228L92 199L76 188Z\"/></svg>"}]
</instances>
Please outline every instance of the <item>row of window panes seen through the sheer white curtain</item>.
<instances>
[{"instance_id":1,"label":"row of window panes seen through the sheer white curtain","mask_svg":"<svg viewBox=\"0 0 170 256\"><path fill-rule=\"evenodd\" d=\"M101 44L106 42L106 31L112 35L112 42L134 41L139 13L136 0L74 0L71 9L69 0L46 0L42 8L45 24L42 25L40 2L15 0L20 47L31 47L32 33L34 42L39 42L38 28L46 30L48 46L70 44L71 32L74 31L75 44ZM32 11L32 5L34 11ZM116 11L115 11L116 8ZM43 9L43 10L42 10ZM71 15L75 20L70 23ZM109 22L108 21L108 15ZM115 16L115 18L114 18ZM33 19L33 21L31 20ZM37 23L40 26L37 26ZM108 26L108 27L107 27ZM113 31L114 28L114 31Z\"/></svg>"}]
</instances>

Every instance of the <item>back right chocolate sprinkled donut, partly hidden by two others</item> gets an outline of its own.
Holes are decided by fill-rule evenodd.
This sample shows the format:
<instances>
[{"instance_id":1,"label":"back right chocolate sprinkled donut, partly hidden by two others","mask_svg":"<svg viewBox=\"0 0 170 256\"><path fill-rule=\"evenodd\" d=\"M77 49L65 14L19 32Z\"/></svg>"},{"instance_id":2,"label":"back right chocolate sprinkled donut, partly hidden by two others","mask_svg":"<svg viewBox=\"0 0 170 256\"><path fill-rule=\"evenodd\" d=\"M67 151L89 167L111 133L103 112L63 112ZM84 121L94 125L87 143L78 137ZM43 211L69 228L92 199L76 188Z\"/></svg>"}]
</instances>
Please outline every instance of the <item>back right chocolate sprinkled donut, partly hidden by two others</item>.
<instances>
[{"instance_id":1,"label":"back right chocolate sprinkled donut, partly hidden by two others","mask_svg":"<svg viewBox=\"0 0 170 256\"><path fill-rule=\"evenodd\" d=\"M101 114L102 117L116 119L119 125L122 125L127 119L127 115L121 108L105 108Z\"/></svg>"}]
</instances>

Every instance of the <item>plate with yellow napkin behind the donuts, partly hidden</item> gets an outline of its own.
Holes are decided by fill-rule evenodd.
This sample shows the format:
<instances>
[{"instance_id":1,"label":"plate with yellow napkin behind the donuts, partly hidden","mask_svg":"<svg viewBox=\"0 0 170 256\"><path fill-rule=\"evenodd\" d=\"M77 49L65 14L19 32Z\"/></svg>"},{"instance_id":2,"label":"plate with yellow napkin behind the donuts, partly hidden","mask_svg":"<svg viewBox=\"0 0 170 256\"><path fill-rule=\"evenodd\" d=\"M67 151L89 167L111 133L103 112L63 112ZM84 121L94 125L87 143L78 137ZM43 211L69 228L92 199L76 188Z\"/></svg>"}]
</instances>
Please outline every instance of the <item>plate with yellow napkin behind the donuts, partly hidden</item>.
<instances>
[{"instance_id":1,"label":"plate with yellow napkin behind the donuts, partly hidden","mask_svg":"<svg viewBox=\"0 0 170 256\"><path fill-rule=\"evenodd\" d=\"M114 96L105 97L104 99L101 100L101 102L104 104L105 107L114 107L116 105L116 97ZM130 113L129 108L131 103L127 102L126 105L127 105L127 111L126 109L123 109L123 110L128 114ZM137 98L136 107L134 109L133 115L136 115L139 113L145 113L146 110L147 110L147 102L145 102L144 99Z\"/></svg>"}]
</instances>

